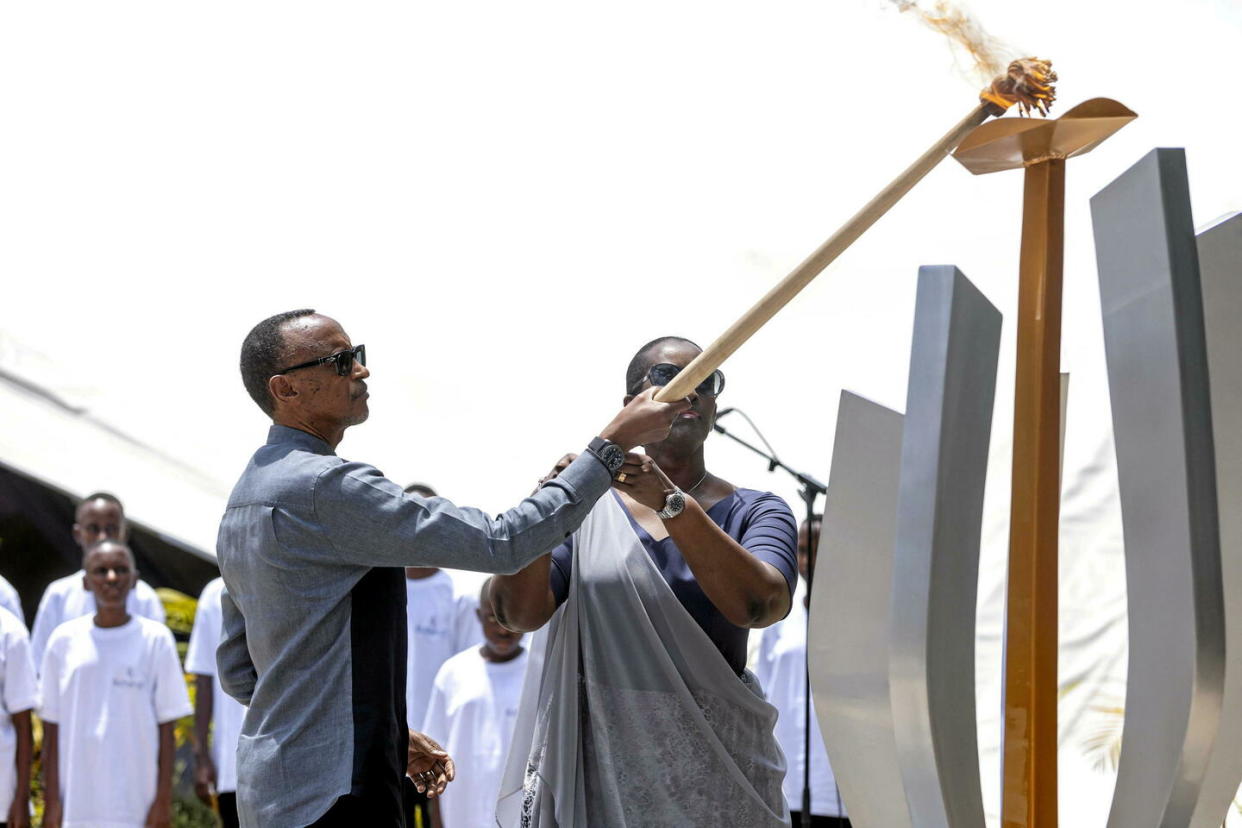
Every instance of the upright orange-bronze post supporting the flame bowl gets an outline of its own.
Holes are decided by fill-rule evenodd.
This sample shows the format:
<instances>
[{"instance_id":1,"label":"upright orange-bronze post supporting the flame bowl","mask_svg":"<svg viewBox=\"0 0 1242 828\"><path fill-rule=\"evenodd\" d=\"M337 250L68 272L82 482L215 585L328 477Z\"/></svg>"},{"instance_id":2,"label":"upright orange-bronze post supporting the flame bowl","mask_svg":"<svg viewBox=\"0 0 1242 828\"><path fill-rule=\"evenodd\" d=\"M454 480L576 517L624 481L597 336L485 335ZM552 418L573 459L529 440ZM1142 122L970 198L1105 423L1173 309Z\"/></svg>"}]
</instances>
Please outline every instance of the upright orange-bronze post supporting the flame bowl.
<instances>
[{"instance_id":1,"label":"upright orange-bronze post supporting the flame bowl","mask_svg":"<svg viewBox=\"0 0 1242 828\"><path fill-rule=\"evenodd\" d=\"M1001 824L1057 824L1057 529L1066 161L1026 168L1018 268Z\"/></svg>"}]
</instances>

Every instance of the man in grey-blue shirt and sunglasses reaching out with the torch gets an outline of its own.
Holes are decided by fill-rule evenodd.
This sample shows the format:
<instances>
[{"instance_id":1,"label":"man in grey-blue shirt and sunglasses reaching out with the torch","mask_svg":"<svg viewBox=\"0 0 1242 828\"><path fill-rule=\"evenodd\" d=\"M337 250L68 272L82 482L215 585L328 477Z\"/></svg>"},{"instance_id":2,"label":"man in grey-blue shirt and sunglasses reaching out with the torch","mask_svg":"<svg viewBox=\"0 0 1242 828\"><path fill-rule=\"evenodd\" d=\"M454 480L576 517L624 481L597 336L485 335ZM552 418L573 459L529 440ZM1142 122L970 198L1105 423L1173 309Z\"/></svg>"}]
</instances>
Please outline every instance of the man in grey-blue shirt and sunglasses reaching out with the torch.
<instances>
[{"instance_id":1,"label":"man in grey-blue shirt and sunglasses reaching out with the torch","mask_svg":"<svg viewBox=\"0 0 1242 828\"><path fill-rule=\"evenodd\" d=\"M623 453L663 439L688 403L641 395L559 477L492 518L337 457L345 428L366 420L370 372L335 320L265 319L242 344L241 371L273 422L217 539L220 683L250 708L241 824L400 827L407 765L431 792L452 777L438 745L406 729L401 567L523 569L581 523Z\"/></svg>"}]
</instances>

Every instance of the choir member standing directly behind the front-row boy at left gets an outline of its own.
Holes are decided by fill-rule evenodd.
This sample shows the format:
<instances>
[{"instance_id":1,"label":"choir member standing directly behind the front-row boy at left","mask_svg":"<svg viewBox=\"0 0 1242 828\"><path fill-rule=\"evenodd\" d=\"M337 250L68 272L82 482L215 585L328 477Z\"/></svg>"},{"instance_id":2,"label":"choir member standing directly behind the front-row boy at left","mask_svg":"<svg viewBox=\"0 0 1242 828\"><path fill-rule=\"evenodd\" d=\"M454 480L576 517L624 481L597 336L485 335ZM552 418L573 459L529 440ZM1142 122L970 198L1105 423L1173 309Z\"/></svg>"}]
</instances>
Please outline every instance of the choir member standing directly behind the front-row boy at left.
<instances>
[{"instance_id":1,"label":"choir member standing directly behind the front-row boy at left","mask_svg":"<svg viewBox=\"0 0 1242 828\"><path fill-rule=\"evenodd\" d=\"M82 555L101 540L129 539L129 526L125 523L125 509L114 495L96 492L83 498L73 514L73 540L82 549ZM73 575L66 575L47 585L43 597L35 612L35 626L30 633L35 667L43 663L43 649L52 632L66 621L94 613L94 596L83 588L84 566ZM139 581L129 592L128 608L132 616L144 616L164 623L164 605L155 590L145 581Z\"/></svg>"}]
</instances>

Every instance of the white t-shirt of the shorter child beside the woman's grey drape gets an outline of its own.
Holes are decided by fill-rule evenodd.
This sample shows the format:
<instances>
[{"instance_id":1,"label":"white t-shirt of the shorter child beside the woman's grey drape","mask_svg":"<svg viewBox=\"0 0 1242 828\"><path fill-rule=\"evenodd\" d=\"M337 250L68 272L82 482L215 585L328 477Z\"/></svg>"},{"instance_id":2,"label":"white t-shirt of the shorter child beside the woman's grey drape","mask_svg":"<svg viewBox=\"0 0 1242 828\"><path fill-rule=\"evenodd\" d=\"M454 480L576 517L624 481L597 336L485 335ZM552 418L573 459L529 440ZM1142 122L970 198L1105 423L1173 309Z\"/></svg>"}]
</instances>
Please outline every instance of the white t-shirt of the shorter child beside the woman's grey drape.
<instances>
[{"instance_id":1,"label":"white t-shirt of the shorter child beside the woman's grey drape","mask_svg":"<svg viewBox=\"0 0 1242 828\"><path fill-rule=\"evenodd\" d=\"M440 668L422 732L438 741L461 771L440 797L445 828L496 826L496 799L522 700L527 650L493 664L478 647Z\"/></svg>"}]
</instances>

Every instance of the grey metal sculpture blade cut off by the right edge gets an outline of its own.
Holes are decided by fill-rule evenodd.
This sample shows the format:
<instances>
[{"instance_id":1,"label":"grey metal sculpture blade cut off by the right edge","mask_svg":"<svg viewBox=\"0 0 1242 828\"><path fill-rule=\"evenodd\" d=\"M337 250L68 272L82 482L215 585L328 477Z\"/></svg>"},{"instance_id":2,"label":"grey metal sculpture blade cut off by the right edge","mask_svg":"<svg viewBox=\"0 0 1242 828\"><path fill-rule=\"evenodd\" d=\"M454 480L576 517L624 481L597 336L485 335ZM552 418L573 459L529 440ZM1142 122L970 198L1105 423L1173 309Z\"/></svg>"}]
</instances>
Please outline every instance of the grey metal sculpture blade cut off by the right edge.
<instances>
[{"instance_id":1,"label":"grey metal sculpture blade cut off by the right edge","mask_svg":"<svg viewBox=\"0 0 1242 828\"><path fill-rule=\"evenodd\" d=\"M1199 235L1203 333L1212 392L1221 580L1225 597L1225 696L1216 744L1191 828L1225 822L1242 785L1242 214Z\"/></svg>"}]
</instances>

